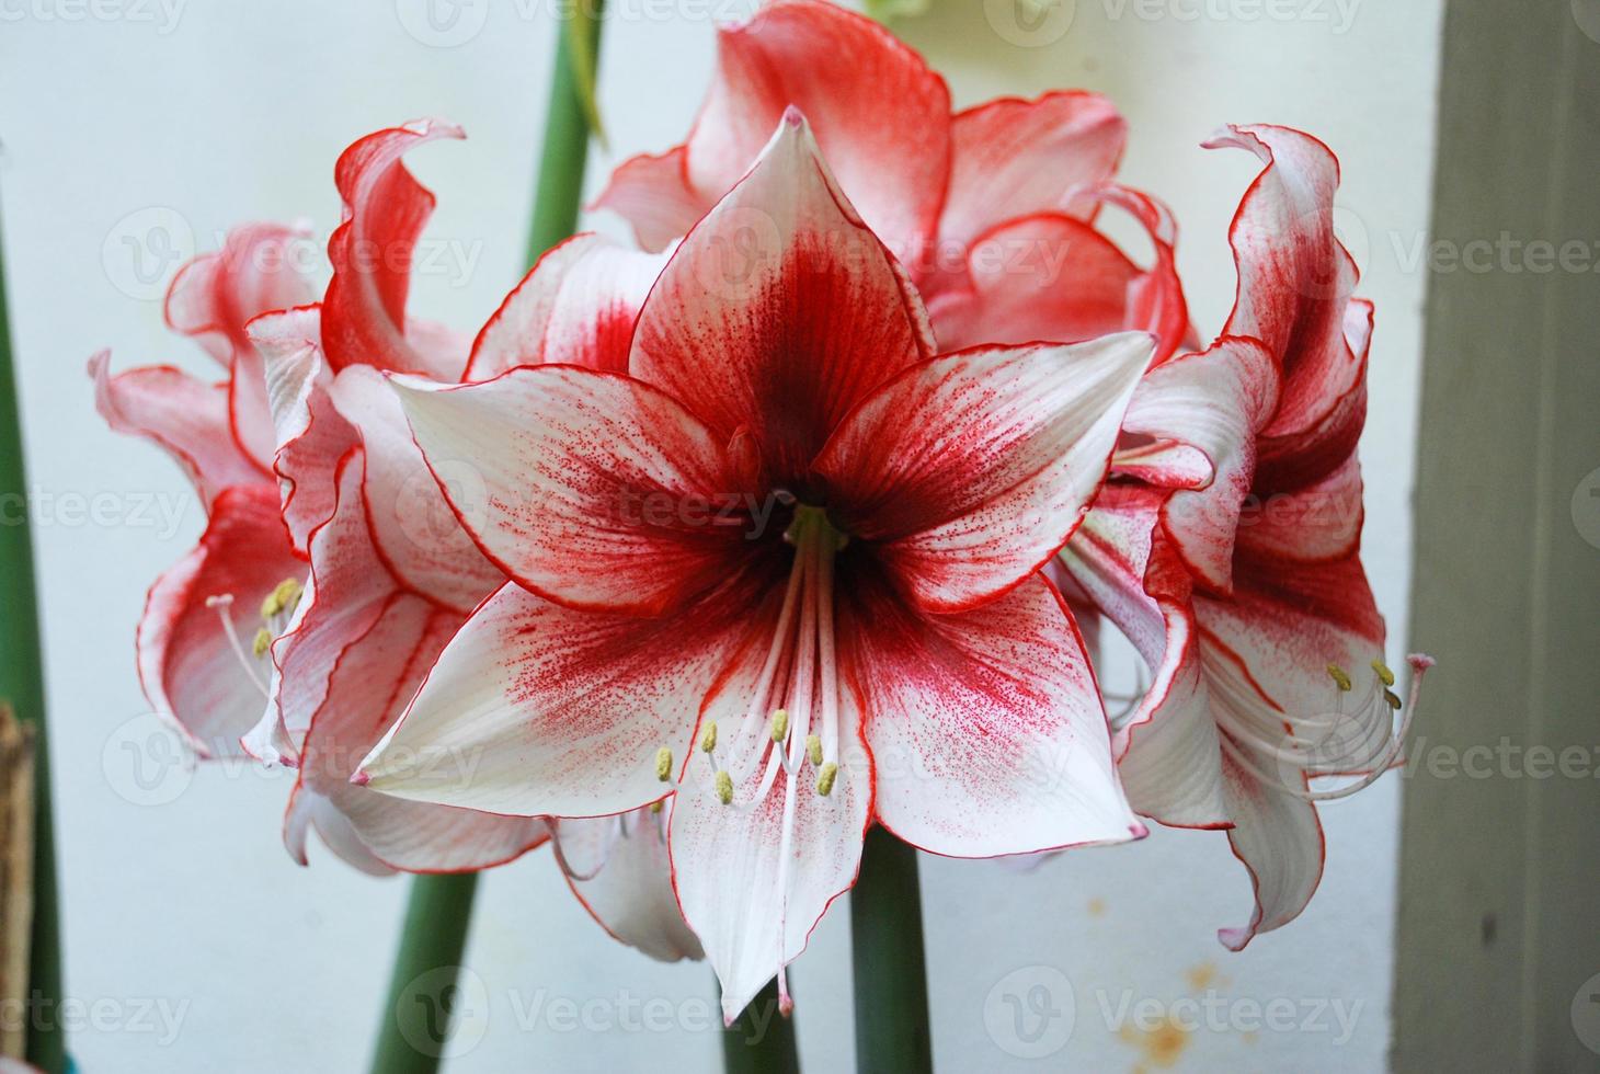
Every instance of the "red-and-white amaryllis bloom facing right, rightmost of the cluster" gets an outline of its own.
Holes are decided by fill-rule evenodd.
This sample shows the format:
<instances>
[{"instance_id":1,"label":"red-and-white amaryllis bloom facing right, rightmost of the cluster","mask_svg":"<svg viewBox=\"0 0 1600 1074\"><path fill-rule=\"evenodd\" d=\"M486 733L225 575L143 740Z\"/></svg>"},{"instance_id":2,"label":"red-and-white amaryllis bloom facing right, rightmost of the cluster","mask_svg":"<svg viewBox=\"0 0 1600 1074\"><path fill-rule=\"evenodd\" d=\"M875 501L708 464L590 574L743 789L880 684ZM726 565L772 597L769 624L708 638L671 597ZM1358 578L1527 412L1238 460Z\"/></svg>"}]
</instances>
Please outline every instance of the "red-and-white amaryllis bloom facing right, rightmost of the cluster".
<instances>
[{"instance_id":1,"label":"red-and-white amaryllis bloom facing right, rightmost of the cluster","mask_svg":"<svg viewBox=\"0 0 1600 1074\"><path fill-rule=\"evenodd\" d=\"M1238 298L1211 351L1147 379L1211 363L1230 405L1186 408L1194 391L1136 403L1128 427L1165 431L1165 461L1114 469L1061 562L1154 671L1117 738L1134 807L1227 829L1251 874L1250 922L1219 933L1238 949L1304 909L1322 877L1315 803L1402 759L1432 661L1410 658L1397 733L1403 704L1360 563L1373 311L1350 296L1355 264L1333 234L1338 162L1278 126L1229 128L1210 146L1266 165L1230 230ZM1214 480L1184 482L1186 450Z\"/></svg>"}]
</instances>

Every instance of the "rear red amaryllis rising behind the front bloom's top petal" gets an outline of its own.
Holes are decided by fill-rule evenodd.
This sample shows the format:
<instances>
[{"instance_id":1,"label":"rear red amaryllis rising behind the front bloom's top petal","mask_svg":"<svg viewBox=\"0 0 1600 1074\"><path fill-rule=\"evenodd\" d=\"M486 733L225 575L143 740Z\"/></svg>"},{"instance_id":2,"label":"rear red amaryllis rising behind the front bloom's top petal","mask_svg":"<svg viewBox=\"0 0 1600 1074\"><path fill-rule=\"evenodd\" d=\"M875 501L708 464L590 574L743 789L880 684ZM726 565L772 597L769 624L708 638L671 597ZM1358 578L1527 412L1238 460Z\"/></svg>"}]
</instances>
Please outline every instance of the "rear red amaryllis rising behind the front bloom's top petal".
<instances>
[{"instance_id":1,"label":"rear red amaryllis rising behind the front bloom's top petal","mask_svg":"<svg viewBox=\"0 0 1600 1074\"><path fill-rule=\"evenodd\" d=\"M1162 359L1184 338L1173 226L1157 202L1112 182L1126 123L1106 98L1054 91L952 114L922 56L821 0L779 0L720 29L688 141L624 162L597 206L622 214L645 250L666 248L744 174L789 106L906 266L942 347L1138 328L1160 338ZM1106 203L1150 230L1150 267L1094 227Z\"/></svg>"}]
</instances>

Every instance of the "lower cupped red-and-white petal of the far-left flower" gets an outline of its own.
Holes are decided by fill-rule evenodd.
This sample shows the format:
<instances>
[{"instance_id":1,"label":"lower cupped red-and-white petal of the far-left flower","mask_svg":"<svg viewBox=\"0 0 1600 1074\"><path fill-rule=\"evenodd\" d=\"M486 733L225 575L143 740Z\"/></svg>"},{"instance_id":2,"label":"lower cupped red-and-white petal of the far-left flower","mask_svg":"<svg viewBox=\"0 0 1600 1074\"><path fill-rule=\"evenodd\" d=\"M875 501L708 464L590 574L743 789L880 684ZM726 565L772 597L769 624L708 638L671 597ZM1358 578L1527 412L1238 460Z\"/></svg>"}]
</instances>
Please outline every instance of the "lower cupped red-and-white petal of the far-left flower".
<instances>
[{"instance_id":1,"label":"lower cupped red-and-white petal of the far-left flower","mask_svg":"<svg viewBox=\"0 0 1600 1074\"><path fill-rule=\"evenodd\" d=\"M200 544L150 587L139 619L139 682L150 707L173 720L202 755L238 757L238 739L261 715L266 659L250 650L261 602L298 579L270 485L235 485L218 496ZM211 597L230 597L224 608ZM222 626L232 623L235 651ZM256 661L254 677L245 661Z\"/></svg>"}]
</instances>

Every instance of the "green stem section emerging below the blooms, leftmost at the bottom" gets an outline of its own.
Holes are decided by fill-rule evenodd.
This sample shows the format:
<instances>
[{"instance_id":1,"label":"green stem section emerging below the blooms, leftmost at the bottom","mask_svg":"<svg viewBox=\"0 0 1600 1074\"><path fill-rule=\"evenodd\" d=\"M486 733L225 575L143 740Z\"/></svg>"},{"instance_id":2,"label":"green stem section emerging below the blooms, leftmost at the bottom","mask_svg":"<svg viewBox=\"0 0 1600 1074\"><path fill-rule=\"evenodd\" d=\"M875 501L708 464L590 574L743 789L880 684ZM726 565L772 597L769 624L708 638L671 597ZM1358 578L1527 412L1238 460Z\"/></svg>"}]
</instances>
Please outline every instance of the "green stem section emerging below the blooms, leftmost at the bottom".
<instances>
[{"instance_id":1,"label":"green stem section emerging below the blooms, leftmost at the bottom","mask_svg":"<svg viewBox=\"0 0 1600 1074\"><path fill-rule=\"evenodd\" d=\"M456 976L477 885L475 872L411 880L389 1000L378 1028L373 1074L434 1074L438 1069L448 1047Z\"/></svg>"}]
</instances>

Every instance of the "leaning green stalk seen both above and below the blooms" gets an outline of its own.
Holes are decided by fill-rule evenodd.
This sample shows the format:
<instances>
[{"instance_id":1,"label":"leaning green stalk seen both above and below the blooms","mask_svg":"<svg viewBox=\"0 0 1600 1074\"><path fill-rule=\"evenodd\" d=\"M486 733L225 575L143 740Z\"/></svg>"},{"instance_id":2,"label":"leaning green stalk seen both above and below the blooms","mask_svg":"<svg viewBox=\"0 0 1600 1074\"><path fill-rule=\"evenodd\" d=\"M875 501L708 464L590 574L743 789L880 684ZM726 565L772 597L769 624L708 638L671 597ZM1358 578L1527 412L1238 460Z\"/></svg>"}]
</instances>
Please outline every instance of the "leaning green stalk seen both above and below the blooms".
<instances>
[{"instance_id":1,"label":"leaning green stalk seen both above and below the blooms","mask_svg":"<svg viewBox=\"0 0 1600 1074\"><path fill-rule=\"evenodd\" d=\"M555 35L555 72L539 160L539 189L528 229L528 264L578 227L589 163L589 115L600 50L602 0L578 0ZM574 43L582 50L574 62ZM589 72L587 80L582 72ZM374 1074L434 1074L446 1048L448 1012L472 920L477 874L411 880L389 999L378 1026Z\"/></svg>"}]
</instances>

